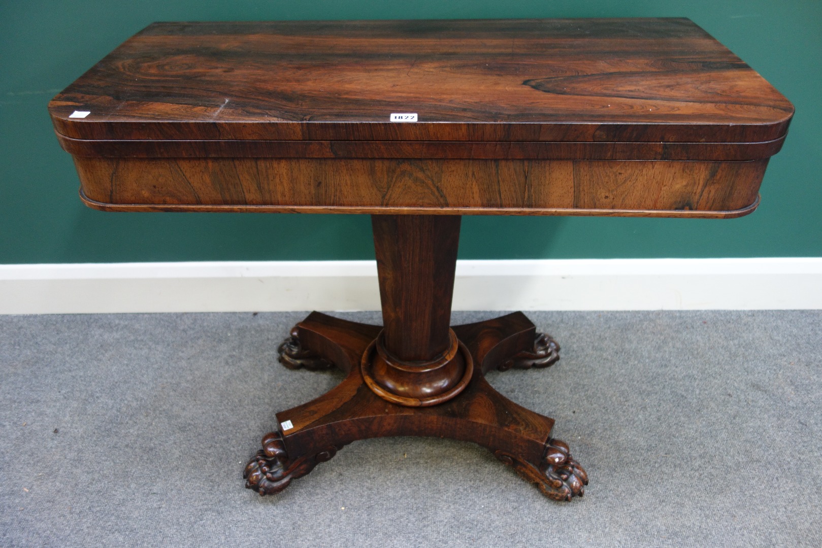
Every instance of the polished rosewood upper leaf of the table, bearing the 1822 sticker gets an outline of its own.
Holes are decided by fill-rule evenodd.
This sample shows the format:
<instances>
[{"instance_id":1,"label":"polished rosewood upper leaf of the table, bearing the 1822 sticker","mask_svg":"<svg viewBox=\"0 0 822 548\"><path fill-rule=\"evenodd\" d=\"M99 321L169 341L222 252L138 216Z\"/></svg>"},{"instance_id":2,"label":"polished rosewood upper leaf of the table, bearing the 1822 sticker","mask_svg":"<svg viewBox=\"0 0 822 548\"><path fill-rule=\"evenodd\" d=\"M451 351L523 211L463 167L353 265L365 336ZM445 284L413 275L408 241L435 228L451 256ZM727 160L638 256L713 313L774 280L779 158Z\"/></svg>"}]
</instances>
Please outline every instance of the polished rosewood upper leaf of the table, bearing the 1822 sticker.
<instances>
[{"instance_id":1,"label":"polished rosewood upper leaf of the table, bearing the 1822 sticker","mask_svg":"<svg viewBox=\"0 0 822 548\"><path fill-rule=\"evenodd\" d=\"M793 108L687 19L566 19L155 23L49 111L80 140L751 143Z\"/></svg>"}]
</instances>

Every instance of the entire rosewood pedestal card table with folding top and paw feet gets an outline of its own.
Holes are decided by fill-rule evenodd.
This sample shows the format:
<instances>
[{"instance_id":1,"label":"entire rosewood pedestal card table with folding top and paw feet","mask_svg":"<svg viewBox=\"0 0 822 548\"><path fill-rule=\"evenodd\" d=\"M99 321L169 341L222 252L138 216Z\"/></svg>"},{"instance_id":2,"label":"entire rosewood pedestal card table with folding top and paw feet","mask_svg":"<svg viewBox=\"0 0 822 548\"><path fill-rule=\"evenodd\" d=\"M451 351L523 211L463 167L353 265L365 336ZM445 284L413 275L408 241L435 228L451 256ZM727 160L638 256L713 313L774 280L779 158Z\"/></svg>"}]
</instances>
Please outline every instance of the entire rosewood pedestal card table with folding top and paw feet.
<instances>
[{"instance_id":1,"label":"entire rosewood pedestal card table with folding top and paw feet","mask_svg":"<svg viewBox=\"0 0 822 548\"><path fill-rule=\"evenodd\" d=\"M294 327L285 366L347 376L277 414L247 487L430 435L570 500L553 419L483 376L559 346L520 312L449 326L460 216L749 214L793 108L687 19L580 19L155 23L49 112L99 210L372 215L384 325Z\"/></svg>"}]
</instances>

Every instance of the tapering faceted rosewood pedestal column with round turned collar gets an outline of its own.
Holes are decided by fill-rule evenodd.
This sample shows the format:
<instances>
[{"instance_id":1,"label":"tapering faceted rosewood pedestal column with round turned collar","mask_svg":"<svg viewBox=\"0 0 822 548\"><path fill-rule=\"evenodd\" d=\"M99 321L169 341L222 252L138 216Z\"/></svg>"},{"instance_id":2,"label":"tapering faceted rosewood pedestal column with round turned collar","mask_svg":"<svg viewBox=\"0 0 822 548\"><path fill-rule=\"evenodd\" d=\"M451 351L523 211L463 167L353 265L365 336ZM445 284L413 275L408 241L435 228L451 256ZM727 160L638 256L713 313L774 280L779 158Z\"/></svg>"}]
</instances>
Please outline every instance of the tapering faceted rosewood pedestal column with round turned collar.
<instances>
[{"instance_id":1,"label":"tapering faceted rosewood pedestal column with round turned collar","mask_svg":"<svg viewBox=\"0 0 822 548\"><path fill-rule=\"evenodd\" d=\"M458 215L372 215L384 328L363 355L367 385L411 407L454 398L473 362L449 328Z\"/></svg>"}]
</instances>

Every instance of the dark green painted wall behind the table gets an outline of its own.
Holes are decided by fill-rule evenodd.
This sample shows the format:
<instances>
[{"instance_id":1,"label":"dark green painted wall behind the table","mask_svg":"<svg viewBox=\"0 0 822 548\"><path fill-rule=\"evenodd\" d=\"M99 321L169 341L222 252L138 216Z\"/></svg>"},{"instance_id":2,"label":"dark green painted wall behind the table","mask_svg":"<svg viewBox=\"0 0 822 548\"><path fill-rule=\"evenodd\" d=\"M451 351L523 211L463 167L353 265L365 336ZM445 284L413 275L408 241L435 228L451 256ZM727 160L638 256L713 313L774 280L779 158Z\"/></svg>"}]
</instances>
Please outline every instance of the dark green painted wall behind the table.
<instances>
[{"instance_id":1,"label":"dark green painted wall behind the table","mask_svg":"<svg viewBox=\"0 0 822 548\"><path fill-rule=\"evenodd\" d=\"M822 256L820 0L12 1L0 4L0 263L373 257L363 215L86 209L46 104L151 21L686 16L797 107L742 219L466 217L462 258Z\"/></svg>"}]
</instances>

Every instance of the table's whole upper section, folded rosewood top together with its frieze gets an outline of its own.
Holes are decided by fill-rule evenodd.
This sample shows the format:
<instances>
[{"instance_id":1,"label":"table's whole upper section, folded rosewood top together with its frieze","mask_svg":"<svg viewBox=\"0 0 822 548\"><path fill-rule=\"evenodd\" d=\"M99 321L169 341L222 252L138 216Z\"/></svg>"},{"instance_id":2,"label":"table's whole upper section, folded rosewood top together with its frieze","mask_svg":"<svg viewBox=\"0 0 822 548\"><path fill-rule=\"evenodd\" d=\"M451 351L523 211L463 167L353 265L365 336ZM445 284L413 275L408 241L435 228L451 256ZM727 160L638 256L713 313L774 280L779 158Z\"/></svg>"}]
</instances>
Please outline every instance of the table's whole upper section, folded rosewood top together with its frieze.
<instances>
[{"instance_id":1,"label":"table's whole upper section, folded rosewood top together with its frieze","mask_svg":"<svg viewBox=\"0 0 822 548\"><path fill-rule=\"evenodd\" d=\"M677 217L793 113L686 19L155 23L49 110L100 210Z\"/></svg>"}]
</instances>

